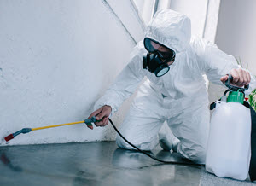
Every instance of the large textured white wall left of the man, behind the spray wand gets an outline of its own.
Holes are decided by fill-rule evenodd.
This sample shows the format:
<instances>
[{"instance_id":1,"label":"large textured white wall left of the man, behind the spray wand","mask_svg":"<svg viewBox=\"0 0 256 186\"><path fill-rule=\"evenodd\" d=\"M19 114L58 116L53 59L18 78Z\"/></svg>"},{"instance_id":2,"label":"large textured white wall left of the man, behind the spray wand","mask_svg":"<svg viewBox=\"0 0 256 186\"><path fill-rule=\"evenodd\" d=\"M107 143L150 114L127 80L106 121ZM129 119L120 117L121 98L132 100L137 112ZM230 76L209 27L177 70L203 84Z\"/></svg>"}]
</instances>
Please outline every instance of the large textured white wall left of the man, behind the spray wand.
<instances>
[{"instance_id":1,"label":"large textured white wall left of the man, behind the spray wand","mask_svg":"<svg viewBox=\"0 0 256 186\"><path fill-rule=\"evenodd\" d=\"M129 0L114 6L103 0L0 0L0 138L24 127L87 118L142 38ZM9 144L113 137L110 125L91 131L79 124L32 131Z\"/></svg>"}]
</instances>

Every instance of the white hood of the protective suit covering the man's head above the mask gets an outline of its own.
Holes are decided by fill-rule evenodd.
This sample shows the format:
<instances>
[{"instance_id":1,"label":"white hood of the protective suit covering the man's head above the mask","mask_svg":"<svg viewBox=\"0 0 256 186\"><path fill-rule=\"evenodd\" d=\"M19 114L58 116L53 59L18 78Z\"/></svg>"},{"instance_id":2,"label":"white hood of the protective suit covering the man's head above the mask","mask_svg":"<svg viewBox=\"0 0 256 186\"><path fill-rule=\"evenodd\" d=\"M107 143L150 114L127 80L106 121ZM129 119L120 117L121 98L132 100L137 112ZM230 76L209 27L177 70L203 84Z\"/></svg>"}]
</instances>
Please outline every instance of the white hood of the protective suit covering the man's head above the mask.
<instances>
[{"instance_id":1,"label":"white hood of the protective suit covering the man's head above the mask","mask_svg":"<svg viewBox=\"0 0 256 186\"><path fill-rule=\"evenodd\" d=\"M190 42L190 20L171 9L162 9L150 21L145 38L151 38L176 53L182 52Z\"/></svg>"}]
</instances>

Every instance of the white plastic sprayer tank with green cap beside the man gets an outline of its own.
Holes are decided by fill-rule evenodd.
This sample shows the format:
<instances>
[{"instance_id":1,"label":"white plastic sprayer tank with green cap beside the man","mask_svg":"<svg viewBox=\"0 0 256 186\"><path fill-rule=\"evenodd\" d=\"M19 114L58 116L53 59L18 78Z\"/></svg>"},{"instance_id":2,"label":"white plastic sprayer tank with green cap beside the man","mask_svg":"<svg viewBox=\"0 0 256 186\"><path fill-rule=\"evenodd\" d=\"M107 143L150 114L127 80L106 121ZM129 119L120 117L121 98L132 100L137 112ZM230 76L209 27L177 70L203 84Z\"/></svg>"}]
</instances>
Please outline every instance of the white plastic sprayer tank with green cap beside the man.
<instances>
[{"instance_id":1,"label":"white plastic sprayer tank with green cap beside the man","mask_svg":"<svg viewBox=\"0 0 256 186\"><path fill-rule=\"evenodd\" d=\"M240 90L216 102L207 146L206 169L218 177L245 180L251 157L251 116Z\"/></svg>"}]
</instances>

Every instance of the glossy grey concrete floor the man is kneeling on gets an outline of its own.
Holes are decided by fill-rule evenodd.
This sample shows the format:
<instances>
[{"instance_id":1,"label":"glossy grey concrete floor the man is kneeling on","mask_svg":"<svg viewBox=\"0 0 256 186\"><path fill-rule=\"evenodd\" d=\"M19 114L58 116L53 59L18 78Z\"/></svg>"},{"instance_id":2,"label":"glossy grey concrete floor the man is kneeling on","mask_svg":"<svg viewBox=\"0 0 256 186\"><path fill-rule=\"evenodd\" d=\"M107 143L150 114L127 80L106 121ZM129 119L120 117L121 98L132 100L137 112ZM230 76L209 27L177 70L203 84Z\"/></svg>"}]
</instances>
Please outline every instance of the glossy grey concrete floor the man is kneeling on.
<instances>
[{"instance_id":1,"label":"glossy grey concrete floor the man is kneeling on","mask_svg":"<svg viewBox=\"0 0 256 186\"><path fill-rule=\"evenodd\" d=\"M153 152L162 160L178 154ZM115 142L0 147L0 185L254 185L215 177L200 166L166 165Z\"/></svg>"}]
</instances>

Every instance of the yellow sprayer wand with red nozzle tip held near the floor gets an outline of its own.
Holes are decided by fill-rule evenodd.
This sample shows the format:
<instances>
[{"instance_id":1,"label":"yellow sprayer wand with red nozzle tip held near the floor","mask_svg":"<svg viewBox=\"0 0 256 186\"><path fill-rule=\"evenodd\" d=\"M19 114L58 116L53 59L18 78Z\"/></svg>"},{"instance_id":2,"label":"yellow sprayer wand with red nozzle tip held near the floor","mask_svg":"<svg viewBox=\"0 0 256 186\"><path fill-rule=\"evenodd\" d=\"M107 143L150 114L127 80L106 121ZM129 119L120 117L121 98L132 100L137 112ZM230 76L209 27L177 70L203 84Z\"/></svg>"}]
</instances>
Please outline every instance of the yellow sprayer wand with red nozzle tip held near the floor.
<instances>
[{"instance_id":1,"label":"yellow sprayer wand with red nozzle tip held near the floor","mask_svg":"<svg viewBox=\"0 0 256 186\"><path fill-rule=\"evenodd\" d=\"M91 123L96 122L96 117L93 116L91 119L84 119L83 121L77 121L77 122L73 122L73 123L67 123L67 124L59 124L59 125L49 125L49 126L42 126L42 127L37 127L37 128L23 128L20 131L16 131L15 133L10 134L7 137L4 137L5 141L8 142L9 140L15 138L16 136L18 136L19 134L26 134L28 132L31 131L37 131L37 130L41 130L41 129L48 129L48 128L54 128L54 127L58 127L58 126L66 126L66 125L74 125L74 124L81 124L81 123L85 123L86 125L92 125Z\"/></svg>"}]
</instances>

